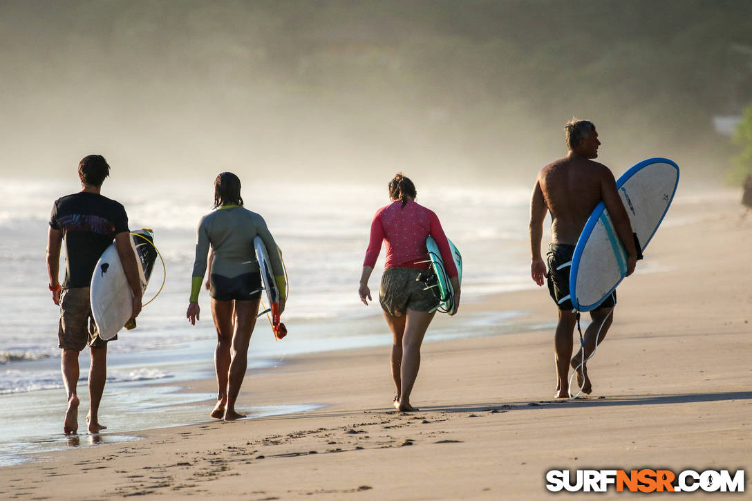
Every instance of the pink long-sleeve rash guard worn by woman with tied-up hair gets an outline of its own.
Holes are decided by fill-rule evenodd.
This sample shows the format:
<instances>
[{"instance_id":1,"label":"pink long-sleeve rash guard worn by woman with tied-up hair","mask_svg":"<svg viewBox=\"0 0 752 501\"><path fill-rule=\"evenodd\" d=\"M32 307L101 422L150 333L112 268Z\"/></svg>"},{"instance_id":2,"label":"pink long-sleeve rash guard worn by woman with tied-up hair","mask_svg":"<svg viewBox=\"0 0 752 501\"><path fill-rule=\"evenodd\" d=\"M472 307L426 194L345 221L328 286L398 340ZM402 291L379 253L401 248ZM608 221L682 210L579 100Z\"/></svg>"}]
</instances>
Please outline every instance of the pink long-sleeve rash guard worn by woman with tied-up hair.
<instances>
[{"instance_id":1,"label":"pink long-sleeve rash guard worn by woman with tied-up hair","mask_svg":"<svg viewBox=\"0 0 752 501\"><path fill-rule=\"evenodd\" d=\"M427 268L426 264L414 264L418 261L428 260L426 238L430 236L436 241L444 267L450 278L457 276L457 267L454 265L447 235L441 229L436 214L409 201L405 207L402 202L396 202L380 208L376 211L373 223L371 223L371 239L368 241L368 250L365 251L363 266L376 265L381 241L387 241L387 263L384 269L389 268Z\"/></svg>"}]
</instances>

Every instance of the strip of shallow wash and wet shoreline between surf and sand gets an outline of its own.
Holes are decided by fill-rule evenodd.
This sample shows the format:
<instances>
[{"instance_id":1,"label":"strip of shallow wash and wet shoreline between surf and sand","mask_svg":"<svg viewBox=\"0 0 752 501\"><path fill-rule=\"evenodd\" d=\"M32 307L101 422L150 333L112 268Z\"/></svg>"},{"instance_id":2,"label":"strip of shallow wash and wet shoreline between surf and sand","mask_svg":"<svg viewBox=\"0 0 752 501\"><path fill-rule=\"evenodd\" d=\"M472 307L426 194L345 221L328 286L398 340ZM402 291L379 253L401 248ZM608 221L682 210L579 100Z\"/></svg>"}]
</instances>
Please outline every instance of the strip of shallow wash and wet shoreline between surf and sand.
<instances>
[{"instance_id":1,"label":"strip of shallow wash and wet shoreline between surf and sand","mask_svg":"<svg viewBox=\"0 0 752 501\"><path fill-rule=\"evenodd\" d=\"M484 305L483 299L466 306L468 306L468 311L465 312L466 316L462 324L470 326L478 332L470 335L458 333L456 329L451 328L453 320L450 320L446 315L442 315L435 321L432 329L429 329L424 346L456 339L506 336L511 332L535 332L541 329L541 326L535 323L520 321L529 312L489 311L487 305ZM378 338L368 336L370 339L365 340L365 342L362 339L359 342L354 340L353 346L346 348L331 349L329 346L323 346L308 354L293 350L293 354L285 354L281 358L277 358L269 354L253 354L252 345L246 381L244 381L244 387L241 389L241 398L238 399L238 409L249 414L247 419L253 420L270 415L297 414L311 408L320 408L321 405L317 402L302 402L293 405L281 402L274 405L244 405L243 393L247 393L246 387L250 389L250 392L253 391L253 380L257 376L273 374L277 369L284 372L285 366L289 363L299 363L300 360L311 357L315 360L320 356L331 356L340 352L351 354L353 357L358 356L357 354L362 351L387 353L391 342L390 334L387 332L387 327L381 325L381 317L377 317L375 320L374 324L384 330ZM262 327L265 326L262 325ZM548 328L550 325L544 327ZM499 334L500 330L506 333ZM141 362L132 365L133 361L129 359L132 359L134 354L122 354L126 360L120 360L120 363L114 364L110 372L127 372L129 368L138 367L139 372L160 372L167 375L108 382L100 410L101 421L108 426L108 430L99 434L98 437L86 433L83 424L83 416L85 416L88 405L86 371L83 370L88 363L86 356L81 359L82 375L78 384L81 406L79 409L79 434L77 436L63 436L58 430L62 425L59 423L60 419L57 414L64 411L64 402L60 393L62 384L40 390L5 393L3 396L5 396L6 405L17 409L19 415L23 414L24 410L26 410L26 414L32 414L31 407L35 407L36 402L41 401L44 402L43 415L45 417L53 415L54 417L51 420L49 417L47 419L38 418L25 426L11 427L8 430L10 432L8 439L0 439L0 468L27 463L33 461L35 455L64 451L68 447L82 448L89 445L136 440L144 430L162 430L216 421L208 416L214 405L217 391L211 350L208 349L214 343L211 340L205 340L204 342L194 342L194 344L205 345L203 348L206 349L202 351L205 357L193 361L193 363L200 363L202 366L193 369L184 367L177 369L181 363L174 361L168 363ZM195 348L193 350L186 349L186 351L195 354ZM163 351L163 354L171 354L171 352ZM155 358L159 358L159 352L150 354L150 359ZM33 370L33 368L29 367L28 370Z\"/></svg>"}]
</instances>

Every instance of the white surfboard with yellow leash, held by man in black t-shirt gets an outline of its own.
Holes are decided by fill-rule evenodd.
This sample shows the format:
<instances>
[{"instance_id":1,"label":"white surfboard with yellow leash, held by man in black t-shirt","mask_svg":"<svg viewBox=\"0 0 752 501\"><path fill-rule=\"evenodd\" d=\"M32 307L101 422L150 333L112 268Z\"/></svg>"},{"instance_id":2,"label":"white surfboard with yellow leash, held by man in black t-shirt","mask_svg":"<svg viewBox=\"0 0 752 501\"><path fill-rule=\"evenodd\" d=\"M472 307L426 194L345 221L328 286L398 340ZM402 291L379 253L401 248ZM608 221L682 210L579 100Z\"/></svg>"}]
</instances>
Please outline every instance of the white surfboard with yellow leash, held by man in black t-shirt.
<instances>
[{"instance_id":1,"label":"white surfboard with yellow leash, held by man in black t-shirt","mask_svg":"<svg viewBox=\"0 0 752 501\"><path fill-rule=\"evenodd\" d=\"M154 237L148 229L139 229L131 233L131 247L136 255L138 278L143 292L149 284L156 260L156 249L152 244ZM99 331L99 337L105 341L114 338L131 319L133 312L133 293L126 279L126 273L123 272L123 263L120 262L115 242L105 249L96 264L89 296L92 317Z\"/></svg>"}]
</instances>

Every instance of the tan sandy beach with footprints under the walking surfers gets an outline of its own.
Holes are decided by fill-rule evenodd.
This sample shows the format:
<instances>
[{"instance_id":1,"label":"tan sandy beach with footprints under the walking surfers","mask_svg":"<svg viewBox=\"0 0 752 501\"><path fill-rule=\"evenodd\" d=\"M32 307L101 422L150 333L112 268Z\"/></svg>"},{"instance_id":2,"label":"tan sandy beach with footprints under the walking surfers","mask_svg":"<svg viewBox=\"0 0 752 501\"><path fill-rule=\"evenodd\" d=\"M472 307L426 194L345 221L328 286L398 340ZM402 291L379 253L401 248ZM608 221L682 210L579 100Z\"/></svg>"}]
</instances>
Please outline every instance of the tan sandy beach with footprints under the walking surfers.
<instances>
[{"instance_id":1,"label":"tan sandy beach with footprints under the walking surfers","mask_svg":"<svg viewBox=\"0 0 752 501\"><path fill-rule=\"evenodd\" d=\"M619 289L587 399L552 399L552 332L425 345L414 414L390 408L388 348L296 357L248 379L238 402L326 407L45 454L0 469L0 497L536 499L552 468L641 467L745 468L748 496L752 215L740 214L735 195L672 208L642 262L660 271ZM542 289L464 309L556 314Z\"/></svg>"}]
</instances>

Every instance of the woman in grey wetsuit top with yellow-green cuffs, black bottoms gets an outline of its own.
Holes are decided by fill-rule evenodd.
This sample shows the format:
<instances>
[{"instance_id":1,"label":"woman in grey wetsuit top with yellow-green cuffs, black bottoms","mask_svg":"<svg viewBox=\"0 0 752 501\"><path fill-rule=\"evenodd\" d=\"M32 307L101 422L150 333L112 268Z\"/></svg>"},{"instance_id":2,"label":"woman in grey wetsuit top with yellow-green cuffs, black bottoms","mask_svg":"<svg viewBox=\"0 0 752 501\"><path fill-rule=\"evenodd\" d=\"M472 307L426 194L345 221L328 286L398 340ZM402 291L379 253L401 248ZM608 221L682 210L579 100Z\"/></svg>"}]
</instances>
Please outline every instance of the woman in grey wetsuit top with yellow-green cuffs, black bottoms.
<instances>
[{"instance_id":1,"label":"woman in grey wetsuit top with yellow-green cuffs, black bottoms","mask_svg":"<svg viewBox=\"0 0 752 501\"><path fill-rule=\"evenodd\" d=\"M235 411L247 368L248 344L261 299L261 275L253 248L259 235L268 250L274 280L280 291L280 314L284 311L286 284L277 244L264 219L243 207L240 179L223 172L214 181L216 211L202 217L196 238L190 304L186 317L192 325L199 320L199 291L207 268L211 247L213 259L209 272L211 314L217 328L214 368L217 370L217 405L211 417L232 421L244 417Z\"/></svg>"}]
</instances>

